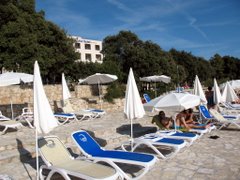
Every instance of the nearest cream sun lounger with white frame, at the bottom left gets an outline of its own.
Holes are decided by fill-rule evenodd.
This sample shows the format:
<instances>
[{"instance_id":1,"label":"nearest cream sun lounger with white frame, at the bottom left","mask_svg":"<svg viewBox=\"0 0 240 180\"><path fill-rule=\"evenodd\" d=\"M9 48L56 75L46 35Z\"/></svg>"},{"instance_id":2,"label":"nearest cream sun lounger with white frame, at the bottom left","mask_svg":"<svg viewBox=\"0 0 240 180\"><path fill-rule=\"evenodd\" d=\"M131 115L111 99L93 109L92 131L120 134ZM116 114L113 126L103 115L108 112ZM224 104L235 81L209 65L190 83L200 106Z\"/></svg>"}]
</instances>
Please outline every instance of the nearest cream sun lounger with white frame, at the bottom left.
<instances>
[{"instance_id":1,"label":"nearest cream sun lounger with white frame, at the bottom left","mask_svg":"<svg viewBox=\"0 0 240 180\"><path fill-rule=\"evenodd\" d=\"M86 160L74 159L66 147L56 136L43 137L38 140L38 150L45 163L40 167L40 178L43 170L50 170L46 179L58 173L64 179L72 179L70 176L81 179L114 180L119 177L115 169Z\"/></svg>"}]
</instances>

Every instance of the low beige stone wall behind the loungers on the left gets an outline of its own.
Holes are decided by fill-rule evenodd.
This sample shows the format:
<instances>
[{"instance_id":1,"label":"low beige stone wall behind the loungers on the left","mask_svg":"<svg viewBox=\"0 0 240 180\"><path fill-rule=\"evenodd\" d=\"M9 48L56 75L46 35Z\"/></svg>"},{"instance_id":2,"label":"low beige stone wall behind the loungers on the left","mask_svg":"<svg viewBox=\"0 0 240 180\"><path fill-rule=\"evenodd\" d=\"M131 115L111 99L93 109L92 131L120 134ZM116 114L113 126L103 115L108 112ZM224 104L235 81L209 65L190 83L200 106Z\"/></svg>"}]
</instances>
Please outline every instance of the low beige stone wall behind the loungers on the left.
<instances>
[{"instance_id":1,"label":"low beige stone wall behind the loungers on the left","mask_svg":"<svg viewBox=\"0 0 240 180\"><path fill-rule=\"evenodd\" d=\"M106 93L107 86L102 86L102 95ZM62 86L45 85L44 90L54 111L62 99ZM86 108L101 108L98 87L89 85L77 85L71 91L70 102L74 110ZM15 85L0 87L0 111L11 117L11 103L13 106L14 117L21 114L23 107L33 107L33 87L27 85ZM105 111L123 110L123 99L116 99L114 104L103 101L102 109Z\"/></svg>"}]
</instances>

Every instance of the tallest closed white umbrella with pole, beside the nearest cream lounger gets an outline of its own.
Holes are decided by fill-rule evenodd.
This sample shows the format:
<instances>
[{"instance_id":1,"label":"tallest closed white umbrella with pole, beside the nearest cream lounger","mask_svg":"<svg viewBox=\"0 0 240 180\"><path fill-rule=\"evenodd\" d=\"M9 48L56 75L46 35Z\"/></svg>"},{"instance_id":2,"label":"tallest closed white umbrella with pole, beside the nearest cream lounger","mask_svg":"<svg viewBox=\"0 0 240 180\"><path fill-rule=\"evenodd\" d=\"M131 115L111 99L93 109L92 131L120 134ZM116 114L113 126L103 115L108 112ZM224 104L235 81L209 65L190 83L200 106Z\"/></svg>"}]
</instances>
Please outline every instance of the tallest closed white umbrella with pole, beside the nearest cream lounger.
<instances>
[{"instance_id":1,"label":"tallest closed white umbrella with pole, beside the nearest cream lounger","mask_svg":"<svg viewBox=\"0 0 240 180\"><path fill-rule=\"evenodd\" d=\"M45 94L37 61L34 64L33 109L34 127L36 128L36 165L38 177L38 133L49 133L53 128L58 126L58 121L53 115L51 106Z\"/></svg>"}]
</instances>

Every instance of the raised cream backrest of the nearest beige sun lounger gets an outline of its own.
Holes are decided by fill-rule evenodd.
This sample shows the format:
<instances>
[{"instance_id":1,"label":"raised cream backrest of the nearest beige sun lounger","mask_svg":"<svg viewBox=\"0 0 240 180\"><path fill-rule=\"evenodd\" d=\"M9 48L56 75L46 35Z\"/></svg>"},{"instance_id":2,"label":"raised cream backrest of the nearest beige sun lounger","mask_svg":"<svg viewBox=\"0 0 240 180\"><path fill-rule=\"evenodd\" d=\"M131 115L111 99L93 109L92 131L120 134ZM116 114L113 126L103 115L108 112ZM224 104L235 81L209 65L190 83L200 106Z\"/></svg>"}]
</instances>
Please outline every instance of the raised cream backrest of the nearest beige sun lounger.
<instances>
[{"instance_id":1,"label":"raised cream backrest of the nearest beige sun lounger","mask_svg":"<svg viewBox=\"0 0 240 180\"><path fill-rule=\"evenodd\" d=\"M66 147L55 136L40 138L38 140L38 149L46 164L62 164L72 159Z\"/></svg>"}]
</instances>

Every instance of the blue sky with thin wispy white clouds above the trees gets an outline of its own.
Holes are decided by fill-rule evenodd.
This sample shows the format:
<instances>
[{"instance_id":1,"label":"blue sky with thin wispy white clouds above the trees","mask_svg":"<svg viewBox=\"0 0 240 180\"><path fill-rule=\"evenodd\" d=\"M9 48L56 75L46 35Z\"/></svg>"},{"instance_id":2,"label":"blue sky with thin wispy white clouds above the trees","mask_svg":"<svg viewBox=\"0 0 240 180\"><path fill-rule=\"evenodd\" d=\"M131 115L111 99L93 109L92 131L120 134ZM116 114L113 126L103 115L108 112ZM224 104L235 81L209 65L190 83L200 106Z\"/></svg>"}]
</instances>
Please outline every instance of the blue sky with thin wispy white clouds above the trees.
<instances>
[{"instance_id":1,"label":"blue sky with thin wispy white clouds above the trees","mask_svg":"<svg viewBox=\"0 0 240 180\"><path fill-rule=\"evenodd\" d=\"M206 60L240 58L239 0L36 0L67 34L103 40L121 30Z\"/></svg>"}]
</instances>

